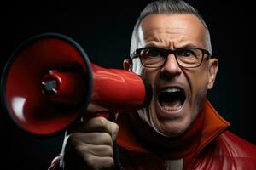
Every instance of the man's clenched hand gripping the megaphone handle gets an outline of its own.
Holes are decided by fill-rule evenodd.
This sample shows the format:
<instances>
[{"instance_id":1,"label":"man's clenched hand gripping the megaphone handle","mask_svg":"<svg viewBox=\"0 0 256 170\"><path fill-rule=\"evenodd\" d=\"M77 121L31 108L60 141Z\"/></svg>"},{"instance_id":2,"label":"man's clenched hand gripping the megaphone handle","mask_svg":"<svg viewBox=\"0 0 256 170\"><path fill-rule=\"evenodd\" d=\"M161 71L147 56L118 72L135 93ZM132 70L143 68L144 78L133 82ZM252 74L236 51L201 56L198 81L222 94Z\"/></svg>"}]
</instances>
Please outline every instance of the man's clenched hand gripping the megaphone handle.
<instances>
[{"instance_id":1,"label":"man's clenched hand gripping the megaphone handle","mask_svg":"<svg viewBox=\"0 0 256 170\"><path fill-rule=\"evenodd\" d=\"M68 170L113 168L113 141L118 131L116 123L103 117L78 122L75 131L65 137L61 167Z\"/></svg>"}]
</instances>

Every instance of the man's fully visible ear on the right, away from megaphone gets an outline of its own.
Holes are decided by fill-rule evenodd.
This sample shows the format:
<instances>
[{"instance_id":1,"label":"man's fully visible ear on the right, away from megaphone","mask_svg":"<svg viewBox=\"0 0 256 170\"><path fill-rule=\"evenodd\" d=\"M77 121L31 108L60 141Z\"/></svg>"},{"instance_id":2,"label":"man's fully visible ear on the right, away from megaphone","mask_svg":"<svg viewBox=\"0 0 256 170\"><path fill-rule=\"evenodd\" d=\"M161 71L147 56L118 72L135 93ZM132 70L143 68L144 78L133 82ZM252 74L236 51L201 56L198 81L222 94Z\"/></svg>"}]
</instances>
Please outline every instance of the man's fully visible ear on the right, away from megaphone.
<instances>
[{"instance_id":1,"label":"man's fully visible ear on the right, away from megaphone","mask_svg":"<svg viewBox=\"0 0 256 170\"><path fill-rule=\"evenodd\" d=\"M211 89L213 87L217 72L218 72L218 59L216 58L209 59L209 65L208 65L209 80L207 85L208 89Z\"/></svg>"}]
</instances>

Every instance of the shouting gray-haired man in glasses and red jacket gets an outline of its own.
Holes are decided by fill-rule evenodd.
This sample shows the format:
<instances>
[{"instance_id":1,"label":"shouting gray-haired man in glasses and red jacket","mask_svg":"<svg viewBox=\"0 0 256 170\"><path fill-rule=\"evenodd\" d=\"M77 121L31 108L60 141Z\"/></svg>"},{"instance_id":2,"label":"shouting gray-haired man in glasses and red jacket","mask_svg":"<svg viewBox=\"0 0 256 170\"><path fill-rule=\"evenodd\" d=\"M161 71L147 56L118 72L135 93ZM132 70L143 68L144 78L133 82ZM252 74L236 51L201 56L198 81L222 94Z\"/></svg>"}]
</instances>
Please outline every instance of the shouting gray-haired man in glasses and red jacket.
<instances>
[{"instance_id":1,"label":"shouting gray-haired man in glasses and red jacket","mask_svg":"<svg viewBox=\"0 0 256 170\"><path fill-rule=\"evenodd\" d=\"M206 99L218 71L211 54L195 8L178 0L148 4L124 68L152 85L150 105L118 114L116 123L79 122L49 169L256 169L255 146L227 131L230 123Z\"/></svg>"}]
</instances>

